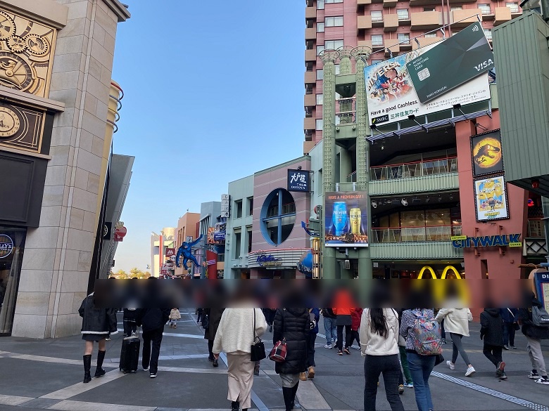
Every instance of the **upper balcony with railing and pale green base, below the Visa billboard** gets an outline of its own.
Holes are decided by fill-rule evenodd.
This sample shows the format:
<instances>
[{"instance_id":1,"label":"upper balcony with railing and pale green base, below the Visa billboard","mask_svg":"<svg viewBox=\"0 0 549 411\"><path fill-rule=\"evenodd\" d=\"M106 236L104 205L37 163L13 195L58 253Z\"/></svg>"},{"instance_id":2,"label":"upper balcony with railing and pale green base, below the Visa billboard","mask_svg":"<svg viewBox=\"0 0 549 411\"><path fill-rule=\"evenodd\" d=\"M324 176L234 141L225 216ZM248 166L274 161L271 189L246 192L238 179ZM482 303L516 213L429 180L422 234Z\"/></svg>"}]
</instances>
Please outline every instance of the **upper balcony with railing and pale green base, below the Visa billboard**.
<instances>
[{"instance_id":1,"label":"upper balcony with railing and pale green base, below the Visa billboard","mask_svg":"<svg viewBox=\"0 0 549 411\"><path fill-rule=\"evenodd\" d=\"M348 178L353 178L353 175ZM370 168L370 195L457 190L457 158Z\"/></svg>"}]
</instances>

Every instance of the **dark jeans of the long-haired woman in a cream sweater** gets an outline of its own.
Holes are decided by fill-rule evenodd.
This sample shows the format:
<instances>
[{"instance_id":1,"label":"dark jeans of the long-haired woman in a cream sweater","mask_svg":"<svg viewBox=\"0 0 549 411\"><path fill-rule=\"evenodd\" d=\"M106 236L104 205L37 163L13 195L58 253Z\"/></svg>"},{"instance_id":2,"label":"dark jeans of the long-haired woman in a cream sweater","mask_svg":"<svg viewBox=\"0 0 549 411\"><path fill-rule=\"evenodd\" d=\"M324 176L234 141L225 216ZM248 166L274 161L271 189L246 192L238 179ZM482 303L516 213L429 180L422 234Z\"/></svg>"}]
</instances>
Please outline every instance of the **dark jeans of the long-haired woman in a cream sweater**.
<instances>
[{"instance_id":1,"label":"dark jeans of the long-haired woman in a cream sweater","mask_svg":"<svg viewBox=\"0 0 549 411\"><path fill-rule=\"evenodd\" d=\"M392 411L404 411L398 396L398 355L366 355L364 360L364 411L376 410L377 381L383 374L385 395Z\"/></svg>"}]
</instances>

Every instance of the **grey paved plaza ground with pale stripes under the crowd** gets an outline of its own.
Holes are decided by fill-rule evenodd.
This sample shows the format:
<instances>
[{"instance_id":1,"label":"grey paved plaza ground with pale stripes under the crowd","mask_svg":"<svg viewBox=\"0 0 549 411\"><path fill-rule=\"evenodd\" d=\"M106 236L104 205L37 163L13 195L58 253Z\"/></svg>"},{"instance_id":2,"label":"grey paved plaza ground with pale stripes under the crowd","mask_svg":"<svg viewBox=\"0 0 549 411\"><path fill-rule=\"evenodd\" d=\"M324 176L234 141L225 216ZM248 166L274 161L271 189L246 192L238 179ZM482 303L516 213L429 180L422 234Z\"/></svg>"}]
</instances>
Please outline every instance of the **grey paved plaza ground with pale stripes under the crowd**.
<instances>
[{"instance_id":1,"label":"grey paved plaza ground with pale stripes under the crowd","mask_svg":"<svg viewBox=\"0 0 549 411\"><path fill-rule=\"evenodd\" d=\"M364 377L360 353L352 350L351 355L338 356L334 350L324 348L322 325L320 333L317 339L317 375L314 380L301 382L298 389L298 400L303 410L362 410ZM272 347L272 342L268 341L270 336L267 332L267 349ZM107 343L107 359L103 365L106 376L82 384L84 344L80 337L48 340L0 338L0 410L229 409L227 366L220 362L219 368L213 368L208 362L207 343L203 339L203 330L196 325L194 311L182 310L177 330L165 328L156 379L150 379L149 373L141 370L126 375L118 370L121 339L120 332ZM549 411L549 386L534 384L526 377L531 367L522 334L517 334L517 346L519 349L516 351L504 352L509 379L500 381L494 377L491 363L482 355L479 325L473 324L471 337L465 339L465 347L477 373L472 378L465 377L465 365L461 360L457 360L455 371L438 365L431 377L436 410ZM544 350L549 364L549 344L544 344ZM451 353L446 349L444 355L450 358ZM253 384L253 409L284 410L274 363L264 360L261 367L260 376L255 377ZM406 389L402 400L405 410L417 410L413 389ZM377 410L389 410L382 380Z\"/></svg>"}]
</instances>

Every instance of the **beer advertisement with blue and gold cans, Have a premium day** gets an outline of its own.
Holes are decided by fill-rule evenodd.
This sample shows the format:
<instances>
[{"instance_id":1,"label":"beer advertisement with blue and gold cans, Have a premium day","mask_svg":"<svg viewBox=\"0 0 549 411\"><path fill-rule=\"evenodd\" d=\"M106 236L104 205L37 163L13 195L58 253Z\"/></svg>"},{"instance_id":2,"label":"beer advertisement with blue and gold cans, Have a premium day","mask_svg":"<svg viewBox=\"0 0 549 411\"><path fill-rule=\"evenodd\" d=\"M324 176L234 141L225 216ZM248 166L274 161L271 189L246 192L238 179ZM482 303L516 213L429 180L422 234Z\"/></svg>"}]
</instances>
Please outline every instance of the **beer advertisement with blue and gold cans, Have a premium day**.
<instances>
[{"instance_id":1,"label":"beer advertisement with blue and gold cans, Have a premium day","mask_svg":"<svg viewBox=\"0 0 549 411\"><path fill-rule=\"evenodd\" d=\"M367 206L365 191L326 193L326 247L368 247Z\"/></svg>"}]
</instances>

